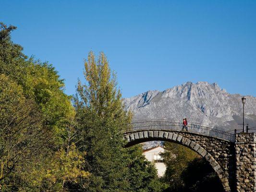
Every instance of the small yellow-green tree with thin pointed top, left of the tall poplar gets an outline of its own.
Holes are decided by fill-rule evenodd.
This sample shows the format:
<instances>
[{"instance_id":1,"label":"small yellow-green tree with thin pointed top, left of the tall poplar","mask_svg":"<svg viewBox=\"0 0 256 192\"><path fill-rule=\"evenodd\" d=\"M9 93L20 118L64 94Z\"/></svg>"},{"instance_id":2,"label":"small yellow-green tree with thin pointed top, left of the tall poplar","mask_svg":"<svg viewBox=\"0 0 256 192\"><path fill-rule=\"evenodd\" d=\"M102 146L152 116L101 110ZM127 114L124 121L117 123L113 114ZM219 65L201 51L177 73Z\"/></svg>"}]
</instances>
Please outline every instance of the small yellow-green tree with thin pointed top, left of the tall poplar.
<instances>
[{"instance_id":1,"label":"small yellow-green tree with thin pointed top, left of the tall poplar","mask_svg":"<svg viewBox=\"0 0 256 192\"><path fill-rule=\"evenodd\" d=\"M53 153L52 158L47 159L47 163L39 165L31 171L28 182L30 189L35 191L67 192L70 186L86 179L89 173L84 170L85 152L81 152L76 147L79 133L75 129L75 123L71 121L66 125L62 136L65 138L60 149ZM35 179L36 178L36 179ZM27 190L27 189L26 189Z\"/></svg>"}]
</instances>

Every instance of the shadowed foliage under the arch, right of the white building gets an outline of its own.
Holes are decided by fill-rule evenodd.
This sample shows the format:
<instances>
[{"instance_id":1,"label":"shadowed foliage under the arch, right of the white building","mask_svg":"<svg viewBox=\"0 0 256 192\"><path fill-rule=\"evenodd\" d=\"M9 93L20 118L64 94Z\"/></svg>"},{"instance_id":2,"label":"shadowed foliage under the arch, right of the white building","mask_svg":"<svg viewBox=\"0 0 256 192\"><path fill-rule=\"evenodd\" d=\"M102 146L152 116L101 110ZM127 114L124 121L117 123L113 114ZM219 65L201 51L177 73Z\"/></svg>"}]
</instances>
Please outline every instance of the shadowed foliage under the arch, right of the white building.
<instances>
[{"instance_id":1,"label":"shadowed foliage under the arch, right of the white building","mask_svg":"<svg viewBox=\"0 0 256 192\"><path fill-rule=\"evenodd\" d=\"M222 192L221 182L209 163L180 144L165 143L168 192ZM209 185L211 188L209 189Z\"/></svg>"}]
</instances>

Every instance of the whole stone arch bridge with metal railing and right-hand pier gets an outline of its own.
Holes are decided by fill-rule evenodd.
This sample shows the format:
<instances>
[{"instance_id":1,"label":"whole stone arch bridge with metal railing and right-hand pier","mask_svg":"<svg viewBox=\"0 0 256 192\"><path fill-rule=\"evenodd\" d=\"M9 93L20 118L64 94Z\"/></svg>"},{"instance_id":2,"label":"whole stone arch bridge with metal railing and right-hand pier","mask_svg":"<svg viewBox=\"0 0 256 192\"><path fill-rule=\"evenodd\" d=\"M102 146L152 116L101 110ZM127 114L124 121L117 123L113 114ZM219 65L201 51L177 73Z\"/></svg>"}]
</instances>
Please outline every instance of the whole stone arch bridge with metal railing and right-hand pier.
<instances>
[{"instance_id":1,"label":"whole stone arch bridge with metal railing and right-hand pier","mask_svg":"<svg viewBox=\"0 0 256 192\"><path fill-rule=\"evenodd\" d=\"M134 121L123 130L126 147L146 141L182 144L204 157L226 192L256 192L256 133L232 134L197 124Z\"/></svg>"}]
</instances>

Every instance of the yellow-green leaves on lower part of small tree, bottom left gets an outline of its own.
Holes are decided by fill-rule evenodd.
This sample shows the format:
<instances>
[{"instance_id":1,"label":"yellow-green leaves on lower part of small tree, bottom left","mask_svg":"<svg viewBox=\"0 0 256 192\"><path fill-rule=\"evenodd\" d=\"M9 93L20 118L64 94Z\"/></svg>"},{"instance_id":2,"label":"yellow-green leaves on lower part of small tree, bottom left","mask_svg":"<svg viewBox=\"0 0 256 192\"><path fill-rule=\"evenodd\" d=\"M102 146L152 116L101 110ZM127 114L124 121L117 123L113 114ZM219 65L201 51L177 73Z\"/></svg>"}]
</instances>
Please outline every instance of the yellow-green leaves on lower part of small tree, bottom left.
<instances>
[{"instance_id":1,"label":"yellow-green leaves on lower part of small tree, bottom left","mask_svg":"<svg viewBox=\"0 0 256 192\"><path fill-rule=\"evenodd\" d=\"M38 168L31 171L32 185L46 185L49 191L63 190L64 183L77 183L82 178L89 177L89 173L83 169L85 152L80 152L75 144L69 146L69 150L61 148L53 156L46 159Z\"/></svg>"}]
</instances>

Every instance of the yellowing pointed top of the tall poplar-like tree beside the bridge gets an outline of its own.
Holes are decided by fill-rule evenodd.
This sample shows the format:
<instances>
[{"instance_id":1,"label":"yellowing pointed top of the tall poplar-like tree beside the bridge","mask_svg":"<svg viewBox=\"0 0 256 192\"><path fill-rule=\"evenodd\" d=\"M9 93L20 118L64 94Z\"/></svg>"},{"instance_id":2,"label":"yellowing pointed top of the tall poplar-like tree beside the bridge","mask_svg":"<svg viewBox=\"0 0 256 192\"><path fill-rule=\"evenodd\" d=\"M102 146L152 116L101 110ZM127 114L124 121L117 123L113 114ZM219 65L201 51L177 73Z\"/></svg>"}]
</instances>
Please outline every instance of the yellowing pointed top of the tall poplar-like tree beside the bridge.
<instances>
[{"instance_id":1,"label":"yellowing pointed top of the tall poplar-like tree beside the bridge","mask_svg":"<svg viewBox=\"0 0 256 192\"><path fill-rule=\"evenodd\" d=\"M118 89L116 75L110 70L109 62L103 52L99 53L98 60L92 51L85 60L86 84L78 82L77 92L85 106L94 112L99 119L105 122L111 120L130 120L131 113L127 114L122 105L122 94ZM122 122L118 122L119 124ZM124 122L123 122L124 123Z\"/></svg>"}]
</instances>

